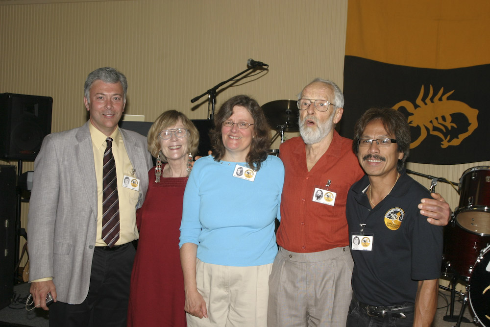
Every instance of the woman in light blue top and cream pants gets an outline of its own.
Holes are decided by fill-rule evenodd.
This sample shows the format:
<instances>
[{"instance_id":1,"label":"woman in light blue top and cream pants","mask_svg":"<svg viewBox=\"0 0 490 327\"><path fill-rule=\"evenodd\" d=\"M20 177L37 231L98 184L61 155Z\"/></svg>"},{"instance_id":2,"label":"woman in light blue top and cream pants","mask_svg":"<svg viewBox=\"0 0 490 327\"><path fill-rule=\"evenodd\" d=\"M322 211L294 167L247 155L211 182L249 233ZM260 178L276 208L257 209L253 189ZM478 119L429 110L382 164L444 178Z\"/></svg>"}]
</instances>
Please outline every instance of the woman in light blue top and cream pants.
<instances>
[{"instance_id":1,"label":"woman in light blue top and cream pants","mask_svg":"<svg viewBox=\"0 0 490 327\"><path fill-rule=\"evenodd\" d=\"M196 161L184 192L187 325L265 327L284 166L268 154L270 127L257 101L229 99L215 126L213 152Z\"/></svg>"}]
</instances>

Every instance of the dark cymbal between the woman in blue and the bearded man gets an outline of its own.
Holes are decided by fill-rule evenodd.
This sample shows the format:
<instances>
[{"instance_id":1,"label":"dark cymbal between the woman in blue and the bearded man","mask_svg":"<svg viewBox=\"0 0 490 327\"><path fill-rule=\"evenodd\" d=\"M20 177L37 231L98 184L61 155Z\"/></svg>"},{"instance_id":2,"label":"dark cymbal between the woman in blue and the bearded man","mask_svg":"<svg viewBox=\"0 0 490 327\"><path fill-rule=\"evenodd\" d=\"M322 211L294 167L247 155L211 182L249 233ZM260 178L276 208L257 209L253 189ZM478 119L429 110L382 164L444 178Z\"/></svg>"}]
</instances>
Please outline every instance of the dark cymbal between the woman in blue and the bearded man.
<instances>
[{"instance_id":1,"label":"dark cymbal between the woman in blue and the bearded man","mask_svg":"<svg viewBox=\"0 0 490 327\"><path fill-rule=\"evenodd\" d=\"M270 128L285 132L297 132L299 109L294 100L276 100L262 106L264 115L269 121Z\"/></svg>"}]
</instances>

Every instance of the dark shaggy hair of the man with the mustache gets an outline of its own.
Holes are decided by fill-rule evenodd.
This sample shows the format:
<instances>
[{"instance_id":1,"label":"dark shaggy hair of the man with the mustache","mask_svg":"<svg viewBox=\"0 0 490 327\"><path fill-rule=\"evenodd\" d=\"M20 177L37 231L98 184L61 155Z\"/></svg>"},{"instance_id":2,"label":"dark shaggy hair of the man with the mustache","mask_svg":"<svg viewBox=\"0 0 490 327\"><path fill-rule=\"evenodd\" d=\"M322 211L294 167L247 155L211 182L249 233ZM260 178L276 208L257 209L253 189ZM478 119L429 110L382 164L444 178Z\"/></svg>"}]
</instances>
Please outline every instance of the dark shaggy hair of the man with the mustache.
<instances>
[{"instance_id":1,"label":"dark shaggy hair of the man with the mustache","mask_svg":"<svg viewBox=\"0 0 490 327\"><path fill-rule=\"evenodd\" d=\"M405 166L410 151L410 127L407 118L399 111L393 108L370 108L356 122L354 126L354 142L352 142L352 151L357 155L359 152L359 139L361 138L366 126L373 120L381 120L385 130L394 135L398 152L403 152L403 158L398 160L397 169L401 171Z\"/></svg>"}]
</instances>

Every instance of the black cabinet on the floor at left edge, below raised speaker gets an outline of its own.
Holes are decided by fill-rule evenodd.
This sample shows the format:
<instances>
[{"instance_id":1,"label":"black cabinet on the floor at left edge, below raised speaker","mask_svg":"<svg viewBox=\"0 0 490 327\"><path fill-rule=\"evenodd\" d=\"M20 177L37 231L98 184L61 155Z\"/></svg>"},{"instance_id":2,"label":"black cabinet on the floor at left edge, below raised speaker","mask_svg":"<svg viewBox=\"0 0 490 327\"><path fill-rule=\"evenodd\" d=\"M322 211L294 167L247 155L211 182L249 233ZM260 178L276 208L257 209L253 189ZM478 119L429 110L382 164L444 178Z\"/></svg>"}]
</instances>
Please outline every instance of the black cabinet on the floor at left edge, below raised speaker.
<instances>
[{"instance_id":1,"label":"black cabinet on the floor at left edge, below raised speaker","mask_svg":"<svg viewBox=\"0 0 490 327\"><path fill-rule=\"evenodd\" d=\"M0 309L9 305L14 291L15 166L0 165Z\"/></svg>"}]
</instances>

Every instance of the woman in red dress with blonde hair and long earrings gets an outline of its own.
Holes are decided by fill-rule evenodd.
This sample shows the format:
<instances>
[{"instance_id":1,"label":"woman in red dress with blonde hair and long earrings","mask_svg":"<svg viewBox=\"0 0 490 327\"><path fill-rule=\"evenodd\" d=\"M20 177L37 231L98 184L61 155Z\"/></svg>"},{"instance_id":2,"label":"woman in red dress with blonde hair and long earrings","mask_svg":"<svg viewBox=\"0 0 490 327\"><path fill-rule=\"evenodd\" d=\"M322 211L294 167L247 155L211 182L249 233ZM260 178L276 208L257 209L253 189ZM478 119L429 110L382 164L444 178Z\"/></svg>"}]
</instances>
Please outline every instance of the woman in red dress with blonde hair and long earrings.
<instances>
[{"instance_id":1,"label":"woman in red dress with blonde hair and long earrings","mask_svg":"<svg viewBox=\"0 0 490 327\"><path fill-rule=\"evenodd\" d=\"M196 127L175 110L161 114L148 131L148 151L157 164L148 172L147 197L136 215L140 239L131 274L127 326L186 326L179 227L198 142Z\"/></svg>"}]
</instances>

